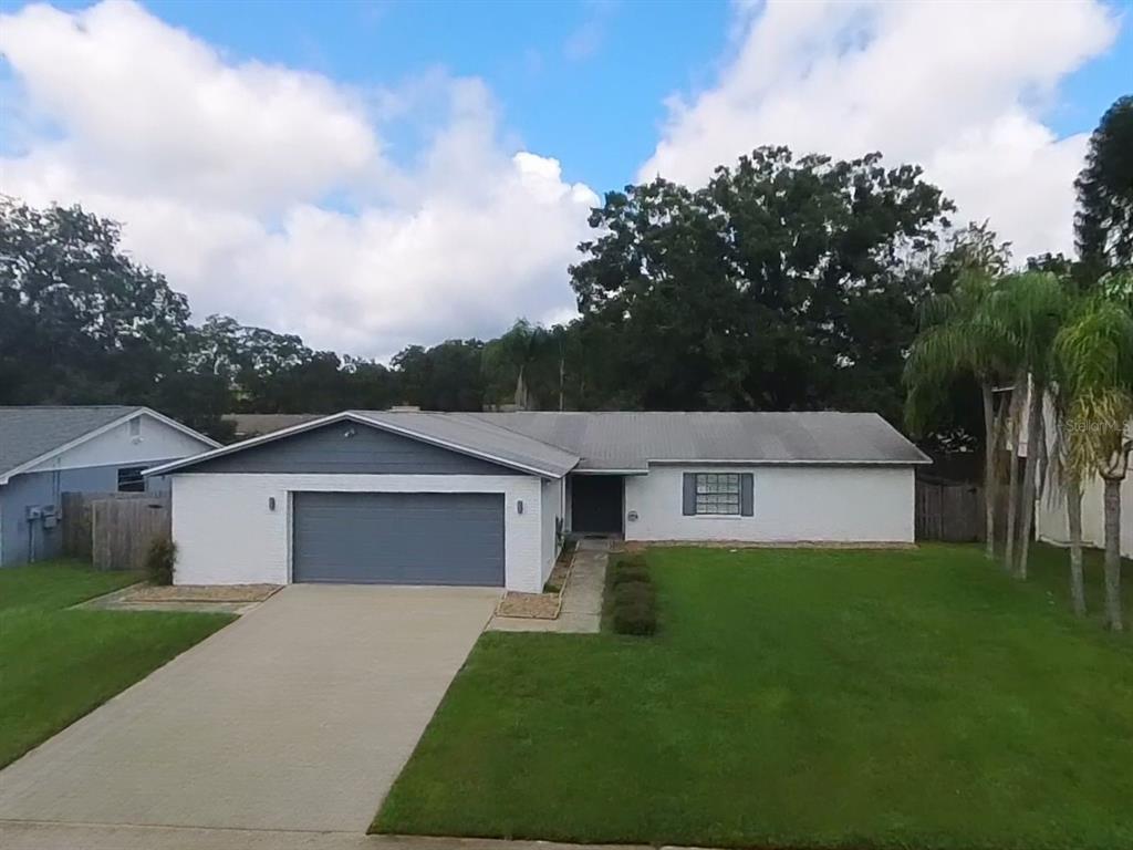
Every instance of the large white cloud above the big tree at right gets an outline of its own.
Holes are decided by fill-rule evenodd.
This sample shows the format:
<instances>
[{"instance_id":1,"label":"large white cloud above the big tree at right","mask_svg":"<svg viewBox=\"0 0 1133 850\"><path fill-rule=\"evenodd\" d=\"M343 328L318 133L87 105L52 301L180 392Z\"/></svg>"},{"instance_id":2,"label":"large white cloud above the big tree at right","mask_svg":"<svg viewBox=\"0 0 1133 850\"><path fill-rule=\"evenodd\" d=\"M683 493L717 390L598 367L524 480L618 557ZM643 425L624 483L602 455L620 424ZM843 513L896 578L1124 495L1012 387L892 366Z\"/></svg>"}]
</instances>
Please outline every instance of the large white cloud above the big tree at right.
<instances>
[{"instance_id":1,"label":"large white cloud above the big tree at right","mask_svg":"<svg viewBox=\"0 0 1133 850\"><path fill-rule=\"evenodd\" d=\"M1099 2L777 2L736 11L717 83L673 97L640 169L699 184L764 144L925 165L1016 258L1073 248L1087 137L1042 124L1058 83L1113 42Z\"/></svg>"}]
</instances>

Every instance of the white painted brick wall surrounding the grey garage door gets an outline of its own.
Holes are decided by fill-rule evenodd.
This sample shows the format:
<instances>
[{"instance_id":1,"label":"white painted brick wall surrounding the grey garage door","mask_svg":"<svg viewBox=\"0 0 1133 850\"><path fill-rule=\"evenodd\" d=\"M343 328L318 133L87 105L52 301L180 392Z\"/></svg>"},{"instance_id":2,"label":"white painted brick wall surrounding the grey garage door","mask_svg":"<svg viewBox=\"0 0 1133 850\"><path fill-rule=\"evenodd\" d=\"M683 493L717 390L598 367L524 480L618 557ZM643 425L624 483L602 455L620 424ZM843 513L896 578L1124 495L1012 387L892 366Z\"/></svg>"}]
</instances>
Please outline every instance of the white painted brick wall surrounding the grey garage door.
<instances>
[{"instance_id":1,"label":"white painted brick wall surrounding the grey garage door","mask_svg":"<svg viewBox=\"0 0 1133 850\"><path fill-rule=\"evenodd\" d=\"M184 473L172 476L172 485L177 584L288 584L290 493L432 492L503 493L505 585L543 589L542 493L535 476ZM519 500L522 513L516 509Z\"/></svg>"}]
</instances>

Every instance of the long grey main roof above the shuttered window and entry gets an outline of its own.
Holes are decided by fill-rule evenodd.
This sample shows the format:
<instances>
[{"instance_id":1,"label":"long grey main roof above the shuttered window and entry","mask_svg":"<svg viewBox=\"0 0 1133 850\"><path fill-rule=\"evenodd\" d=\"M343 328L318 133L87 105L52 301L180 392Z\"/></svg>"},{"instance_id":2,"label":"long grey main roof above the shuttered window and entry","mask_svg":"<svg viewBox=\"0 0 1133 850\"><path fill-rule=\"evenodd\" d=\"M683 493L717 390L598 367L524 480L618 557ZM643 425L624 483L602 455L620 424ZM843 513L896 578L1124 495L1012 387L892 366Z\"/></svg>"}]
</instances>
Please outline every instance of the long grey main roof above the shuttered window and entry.
<instances>
[{"instance_id":1,"label":"long grey main roof above the shuttered window and entry","mask_svg":"<svg viewBox=\"0 0 1133 850\"><path fill-rule=\"evenodd\" d=\"M398 415L398 414L394 414ZM925 464L868 413L508 413L475 418L578 454L579 469L644 470L649 461Z\"/></svg>"}]
</instances>

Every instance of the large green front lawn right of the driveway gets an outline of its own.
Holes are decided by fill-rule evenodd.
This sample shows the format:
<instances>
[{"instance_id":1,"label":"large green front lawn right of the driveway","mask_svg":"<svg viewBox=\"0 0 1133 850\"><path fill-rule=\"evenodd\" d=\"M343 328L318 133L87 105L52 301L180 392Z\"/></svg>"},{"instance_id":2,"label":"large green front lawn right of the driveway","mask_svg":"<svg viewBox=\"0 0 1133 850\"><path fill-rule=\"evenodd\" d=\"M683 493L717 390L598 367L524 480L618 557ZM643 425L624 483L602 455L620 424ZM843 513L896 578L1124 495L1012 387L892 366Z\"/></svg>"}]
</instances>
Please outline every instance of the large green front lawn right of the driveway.
<instances>
[{"instance_id":1,"label":"large green front lawn right of the driveway","mask_svg":"<svg viewBox=\"0 0 1133 850\"><path fill-rule=\"evenodd\" d=\"M651 550L658 635L485 634L374 828L1133 847L1133 638L1068 614L1065 558Z\"/></svg>"}]
</instances>

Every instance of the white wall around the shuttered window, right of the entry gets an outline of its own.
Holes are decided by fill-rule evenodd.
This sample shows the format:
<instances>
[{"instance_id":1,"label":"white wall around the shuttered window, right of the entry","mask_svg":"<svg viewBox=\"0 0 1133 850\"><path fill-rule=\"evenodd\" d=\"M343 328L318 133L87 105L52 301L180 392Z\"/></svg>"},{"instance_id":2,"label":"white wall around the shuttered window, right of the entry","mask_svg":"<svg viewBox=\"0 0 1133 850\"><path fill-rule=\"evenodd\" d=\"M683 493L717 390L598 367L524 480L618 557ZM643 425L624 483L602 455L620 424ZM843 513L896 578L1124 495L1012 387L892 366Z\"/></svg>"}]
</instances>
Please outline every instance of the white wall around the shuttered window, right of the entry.
<instances>
[{"instance_id":1,"label":"white wall around the shuttered window, right of the entry","mask_svg":"<svg viewBox=\"0 0 1133 850\"><path fill-rule=\"evenodd\" d=\"M726 470L752 473L755 516L683 516L682 475L713 468L654 464L648 475L625 478L625 538L913 542L911 467L729 466ZM631 512L636 520L629 519Z\"/></svg>"}]
</instances>

